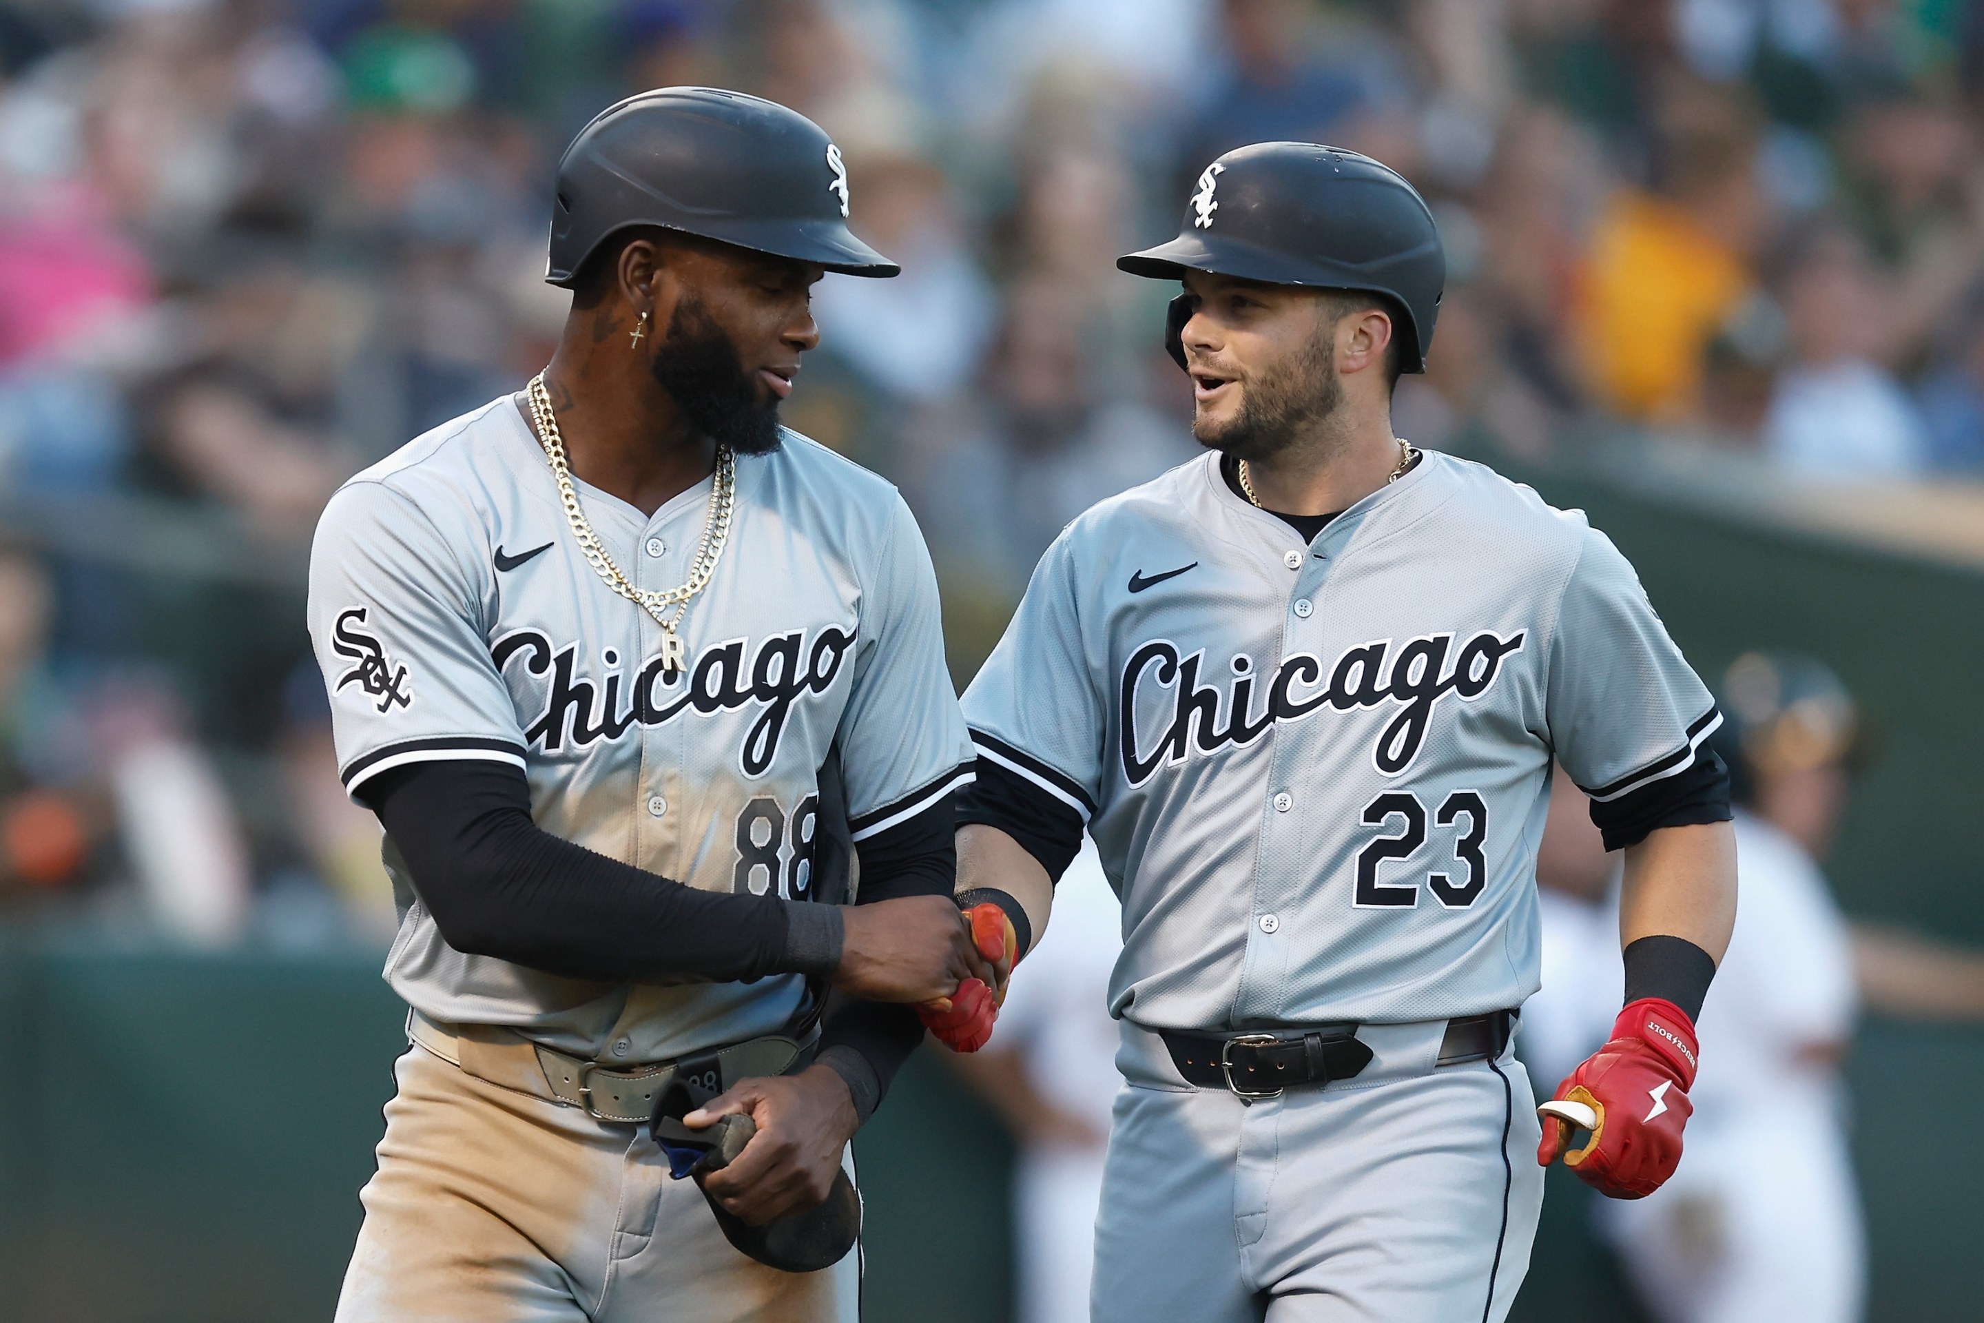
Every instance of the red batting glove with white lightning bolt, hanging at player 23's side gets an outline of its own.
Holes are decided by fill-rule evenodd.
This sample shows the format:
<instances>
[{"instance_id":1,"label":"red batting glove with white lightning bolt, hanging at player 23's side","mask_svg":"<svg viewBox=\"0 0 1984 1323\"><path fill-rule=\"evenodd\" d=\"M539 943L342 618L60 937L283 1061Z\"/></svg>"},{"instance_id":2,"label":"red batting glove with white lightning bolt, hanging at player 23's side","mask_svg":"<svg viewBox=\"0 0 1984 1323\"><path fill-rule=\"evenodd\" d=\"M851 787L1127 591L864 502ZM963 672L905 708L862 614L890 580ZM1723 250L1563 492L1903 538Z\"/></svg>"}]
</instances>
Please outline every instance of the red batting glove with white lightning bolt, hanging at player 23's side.
<instances>
[{"instance_id":1,"label":"red batting glove with white lightning bolt, hanging at player 23's side","mask_svg":"<svg viewBox=\"0 0 1984 1323\"><path fill-rule=\"evenodd\" d=\"M1613 1022L1611 1041L1557 1085L1553 1101L1583 1103L1597 1127L1571 1148L1579 1127L1544 1117L1536 1160L1559 1156L1585 1184L1609 1198L1645 1198L1680 1164L1680 1127L1694 1105L1694 1023L1673 1002L1633 1002Z\"/></svg>"}]
</instances>

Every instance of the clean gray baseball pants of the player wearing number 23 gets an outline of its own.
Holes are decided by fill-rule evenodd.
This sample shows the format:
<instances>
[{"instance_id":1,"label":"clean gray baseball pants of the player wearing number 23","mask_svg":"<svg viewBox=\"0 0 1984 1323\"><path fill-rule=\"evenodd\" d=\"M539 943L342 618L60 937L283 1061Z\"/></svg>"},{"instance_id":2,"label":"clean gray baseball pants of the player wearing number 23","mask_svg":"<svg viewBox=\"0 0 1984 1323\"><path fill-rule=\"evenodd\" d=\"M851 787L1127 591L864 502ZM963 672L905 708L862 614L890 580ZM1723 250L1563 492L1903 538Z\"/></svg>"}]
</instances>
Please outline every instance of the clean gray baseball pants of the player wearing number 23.
<instances>
[{"instance_id":1,"label":"clean gray baseball pants of the player wearing number 23","mask_svg":"<svg viewBox=\"0 0 1984 1323\"><path fill-rule=\"evenodd\" d=\"M1530 1077L1434 1067L1444 1022L1367 1025L1355 1079L1252 1105L1123 1022L1095 1323L1498 1323L1544 1204Z\"/></svg>"}]
</instances>

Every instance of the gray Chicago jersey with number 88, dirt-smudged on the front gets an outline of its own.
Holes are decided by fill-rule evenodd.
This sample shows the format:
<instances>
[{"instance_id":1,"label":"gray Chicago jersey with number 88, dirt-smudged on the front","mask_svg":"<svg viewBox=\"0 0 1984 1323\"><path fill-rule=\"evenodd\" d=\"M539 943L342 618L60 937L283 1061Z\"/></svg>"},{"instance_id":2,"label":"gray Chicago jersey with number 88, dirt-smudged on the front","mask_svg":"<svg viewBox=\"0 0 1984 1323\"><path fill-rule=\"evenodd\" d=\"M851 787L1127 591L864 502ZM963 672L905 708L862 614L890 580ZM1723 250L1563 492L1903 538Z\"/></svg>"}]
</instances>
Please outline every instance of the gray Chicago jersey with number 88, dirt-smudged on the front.
<instances>
[{"instance_id":1,"label":"gray Chicago jersey with number 88, dirt-smudged on the front","mask_svg":"<svg viewBox=\"0 0 1984 1323\"><path fill-rule=\"evenodd\" d=\"M635 587L679 585L710 480L653 518L583 482ZM817 774L837 748L853 839L970 780L936 577L881 478L786 432L736 464L736 516L688 605L686 668L579 551L536 436L504 397L351 478L317 526L310 633L345 787L419 760L524 768L546 831L706 891L811 899ZM778 1031L798 976L607 986L452 950L387 865L387 982L423 1014L653 1061Z\"/></svg>"}]
</instances>

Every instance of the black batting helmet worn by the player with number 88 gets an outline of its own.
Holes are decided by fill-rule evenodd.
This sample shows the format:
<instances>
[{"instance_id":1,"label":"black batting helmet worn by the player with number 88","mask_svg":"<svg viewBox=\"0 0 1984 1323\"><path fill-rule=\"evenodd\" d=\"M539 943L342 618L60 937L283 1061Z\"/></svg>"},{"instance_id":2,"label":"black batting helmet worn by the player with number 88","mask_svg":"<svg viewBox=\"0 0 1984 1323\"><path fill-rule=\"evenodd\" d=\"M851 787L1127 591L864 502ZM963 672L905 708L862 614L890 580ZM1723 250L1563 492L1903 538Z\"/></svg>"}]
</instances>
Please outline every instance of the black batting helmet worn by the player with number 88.
<instances>
[{"instance_id":1,"label":"black batting helmet worn by the player with number 88","mask_svg":"<svg viewBox=\"0 0 1984 1323\"><path fill-rule=\"evenodd\" d=\"M903 268L847 228L847 167L825 129L774 101L661 87L607 107L558 163L552 258L571 288L585 258L629 226L661 226L813 262L847 276Z\"/></svg>"}]
</instances>

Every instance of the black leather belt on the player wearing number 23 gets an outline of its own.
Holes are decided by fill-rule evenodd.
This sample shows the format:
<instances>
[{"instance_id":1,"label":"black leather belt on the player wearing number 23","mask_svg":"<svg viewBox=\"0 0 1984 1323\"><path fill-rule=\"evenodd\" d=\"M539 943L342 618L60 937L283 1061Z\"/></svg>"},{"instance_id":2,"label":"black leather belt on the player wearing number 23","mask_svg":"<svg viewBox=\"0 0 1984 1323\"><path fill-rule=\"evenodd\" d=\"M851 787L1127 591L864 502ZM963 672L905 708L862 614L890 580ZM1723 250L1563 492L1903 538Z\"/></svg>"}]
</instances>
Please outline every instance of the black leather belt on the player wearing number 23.
<instances>
[{"instance_id":1,"label":"black leather belt on the player wearing number 23","mask_svg":"<svg viewBox=\"0 0 1984 1323\"><path fill-rule=\"evenodd\" d=\"M1516 1012L1490 1012L1446 1022L1434 1065L1488 1061L1508 1047ZM1198 1089L1226 1089L1240 1099L1272 1099L1298 1085L1353 1079L1371 1065L1371 1047L1355 1023L1262 1033L1184 1033L1161 1029L1171 1063Z\"/></svg>"}]
</instances>

